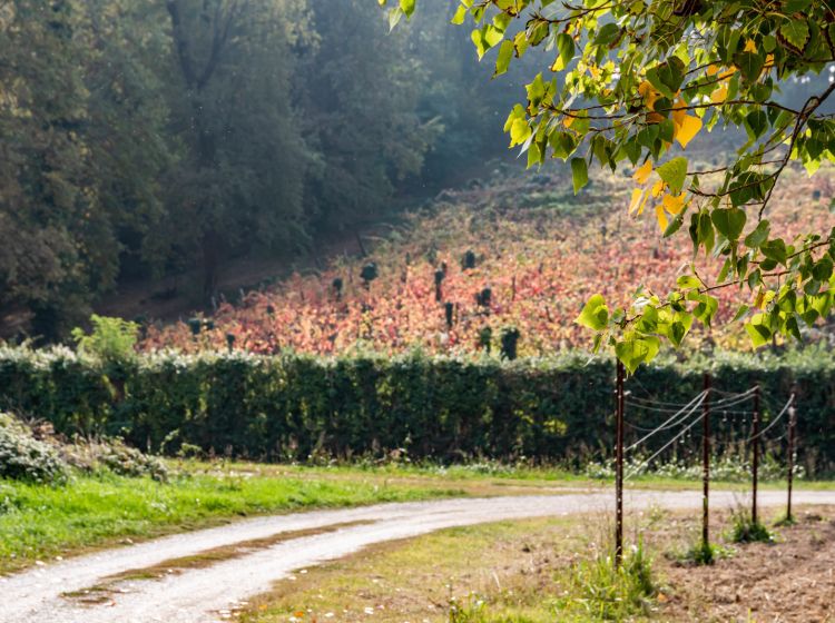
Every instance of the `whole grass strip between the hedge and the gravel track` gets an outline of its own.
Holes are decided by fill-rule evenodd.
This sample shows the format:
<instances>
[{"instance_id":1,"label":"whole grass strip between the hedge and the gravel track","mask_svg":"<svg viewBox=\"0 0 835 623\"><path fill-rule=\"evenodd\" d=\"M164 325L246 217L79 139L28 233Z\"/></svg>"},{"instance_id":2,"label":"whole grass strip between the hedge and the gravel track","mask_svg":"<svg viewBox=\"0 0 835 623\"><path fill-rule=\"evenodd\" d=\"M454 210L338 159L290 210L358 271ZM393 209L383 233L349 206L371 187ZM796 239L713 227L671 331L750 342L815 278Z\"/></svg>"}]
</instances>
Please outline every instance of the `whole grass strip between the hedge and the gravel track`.
<instances>
[{"instance_id":1,"label":"whole grass strip between the hedge and the gravel track","mask_svg":"<svg viewBox=\"0 0 835 623\"><path fill-rule=\"evenodd\" d=\"M380 502L599 490L560 469L472 466L303 467L178 462L168 483L102 473L66 485L0 481L0 573L49 560L210 527L250 515ZM637 481L635 487L697 488L697 482ZM717 487L723 486L717 483ZM744 490L745 485L725 485ZM768 486L779 487L779 483ZM832 483L800 483L825 488Z\"/></svg>"}]
</instances>

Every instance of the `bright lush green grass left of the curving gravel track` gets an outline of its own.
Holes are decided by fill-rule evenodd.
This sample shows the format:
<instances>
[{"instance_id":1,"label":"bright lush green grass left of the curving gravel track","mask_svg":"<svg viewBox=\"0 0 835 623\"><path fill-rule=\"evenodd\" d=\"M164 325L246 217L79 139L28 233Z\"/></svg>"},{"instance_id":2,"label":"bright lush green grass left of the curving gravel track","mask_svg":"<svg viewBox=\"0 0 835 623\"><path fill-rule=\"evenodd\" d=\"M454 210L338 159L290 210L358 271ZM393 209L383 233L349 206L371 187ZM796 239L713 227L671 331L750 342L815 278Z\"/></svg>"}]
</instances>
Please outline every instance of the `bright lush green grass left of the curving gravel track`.
<instances>
[{"instance_id":1,"label":"bright lush green grass left of the curving gravel track","mask_svg":"<svg viewBox=\"0 0 835 623\"><path fill-rule=\"evenodd\" d=\"M126 540L254 514L462 495L426 484L193 474L169 483L110 474L66 485L0 481L0 572Z\"/></svg>"}]
</instances>

